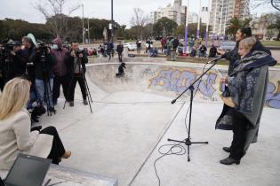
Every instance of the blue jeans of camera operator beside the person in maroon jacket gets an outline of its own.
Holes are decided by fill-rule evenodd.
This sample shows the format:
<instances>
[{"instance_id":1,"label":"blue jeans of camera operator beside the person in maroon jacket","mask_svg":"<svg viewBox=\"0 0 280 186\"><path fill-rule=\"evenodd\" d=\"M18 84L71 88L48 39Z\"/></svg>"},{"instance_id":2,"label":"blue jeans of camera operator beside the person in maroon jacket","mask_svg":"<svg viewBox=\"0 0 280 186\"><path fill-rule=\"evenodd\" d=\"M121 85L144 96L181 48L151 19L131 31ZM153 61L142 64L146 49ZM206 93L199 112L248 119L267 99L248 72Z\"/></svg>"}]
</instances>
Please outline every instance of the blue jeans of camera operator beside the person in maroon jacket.
<instances>
[{"instance_id":1,"label":"blue jeans of camera operator beside the person in maroon jacket","mask_svg":"<svg viewBox=\"0 0 280 186\"><path fill-rule=\"evenodd\" d=\"M50 82L50 83L48 83ZM53 87L53 78L51 78L48 82L44 83L43 80L36 79L36 89L39 93L39 99L43 103L45 101L48 108L52 108L52 87ZM50 85L50 86L49 86ZM44 89L47 87L47 89Z\"/></svg>"}]
</instances>

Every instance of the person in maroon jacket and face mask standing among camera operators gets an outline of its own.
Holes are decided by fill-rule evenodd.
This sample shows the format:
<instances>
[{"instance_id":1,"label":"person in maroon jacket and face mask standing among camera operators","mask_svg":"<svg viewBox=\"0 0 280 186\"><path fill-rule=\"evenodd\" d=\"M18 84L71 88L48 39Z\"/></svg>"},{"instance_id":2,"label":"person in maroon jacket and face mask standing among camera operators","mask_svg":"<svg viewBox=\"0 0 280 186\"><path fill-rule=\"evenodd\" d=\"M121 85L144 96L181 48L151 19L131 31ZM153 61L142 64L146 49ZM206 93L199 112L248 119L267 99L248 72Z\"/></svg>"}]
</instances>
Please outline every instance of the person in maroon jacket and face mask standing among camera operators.
<instances>
[{"instance_id":1,"label":"person in maroon jacket and face mask standing among camera operators","mask_svg":"<svg viewBox=\"0 0 280 186\"><path fill-rule=\"evenodd\" d=\"M52 41L52 55L56 57L56 64L53 66L53 88L52 88L52 103L57 105L60 97L60 85L62 85L63 95L68 100L69 87L69 69L68 69L68 50L62 47L62 42L59 37Z\"/></svg>"}]
</instances>

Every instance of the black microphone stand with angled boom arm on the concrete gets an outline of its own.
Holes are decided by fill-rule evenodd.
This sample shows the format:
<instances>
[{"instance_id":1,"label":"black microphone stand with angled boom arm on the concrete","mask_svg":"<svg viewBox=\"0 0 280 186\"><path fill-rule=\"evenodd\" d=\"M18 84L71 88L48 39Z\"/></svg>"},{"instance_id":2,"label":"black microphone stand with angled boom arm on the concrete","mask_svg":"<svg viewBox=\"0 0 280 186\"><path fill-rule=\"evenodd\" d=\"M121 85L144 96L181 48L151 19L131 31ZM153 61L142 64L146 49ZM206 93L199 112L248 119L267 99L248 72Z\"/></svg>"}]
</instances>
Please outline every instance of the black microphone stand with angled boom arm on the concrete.
<instances>
[{"instance_id":1,"label":"black microphone stand with angled boom arm on the concrete","mask_svg":"<svg viewBox=\"0 0 280 186\"><path fill-rule=\"evenodd\" d=\"M213 62L212 66L210 66L203 74L201 74L197 79L196 81L199 81L203 76L204 74L206 74L208 71L210 71L212 69L213 66L215 66L217 64L217 61L219 60L220 58L215 58L213 59L212 61L209 61L207 62L207 64L210 64ZM188 117L188 137L183 140L183 141L180 141L180 140L174 140L174 139L170 139L168 138L167 141L171 141L171 142L178 142L178 143L185 143L187 146L188 146L188 161L190 161L189 159L189 146L191 144L197 144L197 143L204 143L204 144L208 144L208 142L191 142L190 139L190 124L191 124L191 113L192 113L192 105L193 105L193 99L194 99L194 84L196 83L196 81L194 81L191 85L188 86L187 89L185 89L178 97L176 97L175 99L172 100L172 104L175 104L176 101L183 95L185 94L185 92L188 91L188 89L190 90L190 103L189 103L189 117Z\"/></svg>"}]
</instances>

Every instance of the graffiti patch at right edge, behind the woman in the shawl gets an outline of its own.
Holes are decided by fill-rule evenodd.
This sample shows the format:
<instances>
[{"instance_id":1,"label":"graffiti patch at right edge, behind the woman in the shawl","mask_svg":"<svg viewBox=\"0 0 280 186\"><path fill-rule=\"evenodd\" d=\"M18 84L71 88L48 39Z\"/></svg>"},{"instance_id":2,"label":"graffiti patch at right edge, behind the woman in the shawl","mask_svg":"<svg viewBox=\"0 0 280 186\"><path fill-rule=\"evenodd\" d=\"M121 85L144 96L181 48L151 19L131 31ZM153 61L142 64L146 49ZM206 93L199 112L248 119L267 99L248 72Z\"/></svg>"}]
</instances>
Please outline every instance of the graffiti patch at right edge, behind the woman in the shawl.
<instances>
[{"instance_id":1,"label":"graffiti patch at right edge, behind the woman in the shawl","mask_svg":"<svg viewBox=\"0 0 280 186\"><path fill-rule=\"evenodd\" d=\"M267 105L272 108L280 109L280 81L275 85L273 82L268 83Z\"/></svg>"}]
</instances>

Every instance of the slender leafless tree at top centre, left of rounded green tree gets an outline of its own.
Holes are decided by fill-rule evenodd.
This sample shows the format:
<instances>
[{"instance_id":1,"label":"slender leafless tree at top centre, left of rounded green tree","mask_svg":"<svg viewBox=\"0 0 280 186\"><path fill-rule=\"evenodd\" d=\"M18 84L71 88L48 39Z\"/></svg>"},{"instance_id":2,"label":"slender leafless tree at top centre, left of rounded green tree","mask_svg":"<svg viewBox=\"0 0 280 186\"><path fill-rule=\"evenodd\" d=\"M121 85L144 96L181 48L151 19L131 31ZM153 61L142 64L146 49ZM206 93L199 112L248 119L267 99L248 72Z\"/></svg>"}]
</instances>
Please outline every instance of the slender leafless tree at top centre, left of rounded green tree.
<instances>
[{"instance_id":1,"label":"slender leafless tree at top centre, left of rounded green tree","mask_svg":"<svg viewBox=\"0 0 280 186\"><path fill-rule=\"evenodd\" d=\"M133 9L134 16L131 19L132 27L136 28L137 38L142 40L144 27L148 24L148 16L140 8Z\"/></svg>"}]
</instances>

